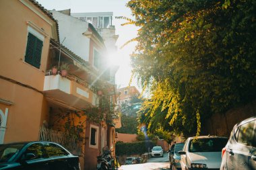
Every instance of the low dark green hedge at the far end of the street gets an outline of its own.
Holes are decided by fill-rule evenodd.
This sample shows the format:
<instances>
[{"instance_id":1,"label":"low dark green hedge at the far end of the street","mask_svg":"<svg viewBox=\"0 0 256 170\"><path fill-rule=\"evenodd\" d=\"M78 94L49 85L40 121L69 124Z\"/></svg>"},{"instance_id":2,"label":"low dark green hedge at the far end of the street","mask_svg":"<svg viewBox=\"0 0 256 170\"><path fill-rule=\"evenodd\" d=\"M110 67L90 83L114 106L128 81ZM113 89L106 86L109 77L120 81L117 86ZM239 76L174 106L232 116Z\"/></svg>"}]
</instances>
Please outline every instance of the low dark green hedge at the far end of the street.
<instances>
[{"instance_id":1,"label":"low dark green hedge at the far end of the street","mask_svg":"<svg viewBox=\"0 0 256 170\"><path fill-rule=\"evenodd\" d=\"M150 140L132 143L124 143L119 141L116 143L116 155L140 155L143 153L148 153L148 149L151 149L153 146L156 146L156 143Z\"/></svg>"}]
</instances>

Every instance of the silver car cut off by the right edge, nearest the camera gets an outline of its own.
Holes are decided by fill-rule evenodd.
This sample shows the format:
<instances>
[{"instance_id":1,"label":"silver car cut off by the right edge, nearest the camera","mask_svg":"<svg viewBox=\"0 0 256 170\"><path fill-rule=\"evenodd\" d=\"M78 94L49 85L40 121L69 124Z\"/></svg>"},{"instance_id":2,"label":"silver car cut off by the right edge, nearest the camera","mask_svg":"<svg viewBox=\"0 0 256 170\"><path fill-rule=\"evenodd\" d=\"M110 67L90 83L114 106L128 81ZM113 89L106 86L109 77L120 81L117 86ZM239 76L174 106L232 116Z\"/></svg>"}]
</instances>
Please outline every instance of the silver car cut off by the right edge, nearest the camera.
<instances>
[{"instance_id":1,"label":"silver car cut off by the right edge, nearest the camera","mask_svg":"<svg viewBox=\"0 0 256 170\"><path fill-rule=\"evenodd\" d=\"M220 169L256 169L256 116L234 126Z\"/></svg>"}]
</instances>

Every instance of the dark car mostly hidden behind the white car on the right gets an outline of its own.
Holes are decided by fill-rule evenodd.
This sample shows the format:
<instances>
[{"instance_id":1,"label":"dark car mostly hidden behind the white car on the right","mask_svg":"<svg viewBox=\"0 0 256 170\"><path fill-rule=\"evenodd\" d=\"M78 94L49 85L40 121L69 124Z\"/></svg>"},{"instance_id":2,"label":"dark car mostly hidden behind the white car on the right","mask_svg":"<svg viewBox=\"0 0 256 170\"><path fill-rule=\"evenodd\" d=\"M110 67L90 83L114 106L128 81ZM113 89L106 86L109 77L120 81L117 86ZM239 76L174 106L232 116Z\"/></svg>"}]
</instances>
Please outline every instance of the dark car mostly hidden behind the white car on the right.
<instances>
[{"instance_id":1,"label":"dark car mostly hidden behind the white car on the right","mask_svg":"<svg viewBox=\"0 0 256 170\"><path fill-rule=\"evenodd\" d=\"M170 169L181 169L181 155L179 151L183 151L183 146L185 143L173 144L169 151L169 162Z\"/></svg>"}]
</instances>

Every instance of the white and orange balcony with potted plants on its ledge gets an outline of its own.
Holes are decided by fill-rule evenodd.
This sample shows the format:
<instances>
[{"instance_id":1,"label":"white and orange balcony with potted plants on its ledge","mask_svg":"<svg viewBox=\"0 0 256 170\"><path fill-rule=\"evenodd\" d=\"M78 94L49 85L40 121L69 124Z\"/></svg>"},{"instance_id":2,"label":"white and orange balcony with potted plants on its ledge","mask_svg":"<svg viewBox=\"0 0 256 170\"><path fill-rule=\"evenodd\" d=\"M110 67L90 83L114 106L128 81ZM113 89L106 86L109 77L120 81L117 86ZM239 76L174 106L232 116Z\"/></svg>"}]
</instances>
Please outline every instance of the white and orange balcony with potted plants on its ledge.
<instances>
[{"instance_id":1,"label":"white and orange balcony with potted plants on its ledge","mask_svg":"<svg viewBox=\"0 0 256 170\"><path fill-rule=\"evenodd\" d=\"M52 75L51 71L46 71L44 93L46 99L55 103L75 109L88 108L88 105L95 106L98 103L96 91L95 87L75 75L62 77L59 72Z\"/></svg>"}]
</instances>

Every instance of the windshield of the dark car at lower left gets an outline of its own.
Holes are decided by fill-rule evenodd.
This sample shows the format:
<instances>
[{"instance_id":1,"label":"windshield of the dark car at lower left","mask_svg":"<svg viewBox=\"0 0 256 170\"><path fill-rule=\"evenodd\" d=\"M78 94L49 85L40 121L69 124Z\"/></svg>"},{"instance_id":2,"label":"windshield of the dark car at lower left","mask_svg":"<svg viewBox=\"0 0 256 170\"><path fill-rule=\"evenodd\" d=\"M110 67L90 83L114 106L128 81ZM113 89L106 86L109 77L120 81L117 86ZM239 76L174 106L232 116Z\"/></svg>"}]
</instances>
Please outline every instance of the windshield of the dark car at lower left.
<instances>
[{"instance_id":1,"label":"windshield of the dark car at lower left","mask_svg":"<svg viewBox=\"0 0 256 170\"><path fill-rule=\"evenodd\" d=\"M24 144L0 144L0 163L11 160L23 146Z\"/></svg>"}]
</instances>

